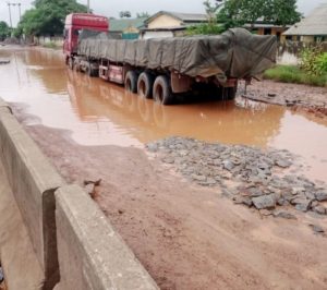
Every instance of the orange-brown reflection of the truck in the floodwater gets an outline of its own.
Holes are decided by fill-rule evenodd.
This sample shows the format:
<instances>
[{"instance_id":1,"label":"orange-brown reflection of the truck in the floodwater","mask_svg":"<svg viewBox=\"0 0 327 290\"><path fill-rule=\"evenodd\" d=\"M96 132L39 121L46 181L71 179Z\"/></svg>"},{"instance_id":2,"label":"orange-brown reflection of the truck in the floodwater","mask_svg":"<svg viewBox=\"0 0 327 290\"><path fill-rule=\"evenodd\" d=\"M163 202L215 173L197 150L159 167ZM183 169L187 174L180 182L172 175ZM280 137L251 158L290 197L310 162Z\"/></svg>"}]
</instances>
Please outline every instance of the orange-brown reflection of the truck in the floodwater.
<instances>
[{"instance_id":1,"label":"orange-brown reflection of the truck in the floodwater","mask_svg":"<svg viewBox=\"0 0 327 290\"><path fill-rule=\"evenodd\" d=\"M142 143L182 135L266 146L284 113L279 107L244 109L233 101L165 107L72 71L68 71L68 90L81 120L108 119Z\"/></svg>"}]
</instances>

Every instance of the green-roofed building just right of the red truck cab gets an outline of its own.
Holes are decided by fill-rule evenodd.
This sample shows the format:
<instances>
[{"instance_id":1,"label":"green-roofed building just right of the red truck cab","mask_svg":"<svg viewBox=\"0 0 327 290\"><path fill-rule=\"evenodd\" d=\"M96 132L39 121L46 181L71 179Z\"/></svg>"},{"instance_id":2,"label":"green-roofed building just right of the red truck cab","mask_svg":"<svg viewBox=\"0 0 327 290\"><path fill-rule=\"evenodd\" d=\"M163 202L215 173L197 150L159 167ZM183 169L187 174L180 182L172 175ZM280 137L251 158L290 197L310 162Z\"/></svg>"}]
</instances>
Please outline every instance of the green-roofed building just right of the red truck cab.
<instances>
[{"instance_id":1,"label":"green-roofed building just right of the red truck cab","mask_svg":"<svg viewBox=\"0 0 327 290\"><path fill-rule=\"evenodd\" d=\"M137 39L147 17L109 20L109 34L114 38Z\"/></svg>"}]
</instances>

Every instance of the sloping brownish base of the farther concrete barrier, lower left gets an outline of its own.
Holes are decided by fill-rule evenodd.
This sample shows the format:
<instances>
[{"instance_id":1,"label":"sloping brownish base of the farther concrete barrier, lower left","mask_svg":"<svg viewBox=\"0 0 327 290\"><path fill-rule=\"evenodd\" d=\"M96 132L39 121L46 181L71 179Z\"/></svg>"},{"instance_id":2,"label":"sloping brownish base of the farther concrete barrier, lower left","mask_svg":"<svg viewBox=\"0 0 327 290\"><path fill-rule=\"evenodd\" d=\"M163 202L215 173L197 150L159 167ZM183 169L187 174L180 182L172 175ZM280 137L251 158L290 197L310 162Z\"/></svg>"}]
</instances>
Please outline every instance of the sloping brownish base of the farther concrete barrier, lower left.
<instances>
[{"instance_id":1,"label":"sloping brownish base of the farther concrete barrier, lower left","mask_svg":"<svg viewBox=\"0 0 327 290\"><path fill-rule=\"evenodd\" d=\"M45 277L0 162L0 261L8 289L41 289Z\"/></svg>"}]
</instances>

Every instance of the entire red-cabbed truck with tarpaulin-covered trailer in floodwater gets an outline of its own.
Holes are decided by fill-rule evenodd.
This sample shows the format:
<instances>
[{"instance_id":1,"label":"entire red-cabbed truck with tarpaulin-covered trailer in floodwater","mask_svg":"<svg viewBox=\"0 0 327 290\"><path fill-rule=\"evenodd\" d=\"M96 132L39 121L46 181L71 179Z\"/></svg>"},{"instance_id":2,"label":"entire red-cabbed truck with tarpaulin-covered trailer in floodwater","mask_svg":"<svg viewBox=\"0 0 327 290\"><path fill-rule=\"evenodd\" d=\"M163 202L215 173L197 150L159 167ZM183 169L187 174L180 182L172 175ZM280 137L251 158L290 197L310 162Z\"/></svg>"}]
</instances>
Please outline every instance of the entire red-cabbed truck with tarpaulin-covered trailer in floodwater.
<instances>
[{"instance_id":1,"label":"entire red-cabbed truck with tarpaulin-covered trailer in floodwater","mask_svg":"<svg viewBox=\"0 0 327 290\"><path fill-rule=\"evenodd\" d=\"M122 40L110 37L109 25L100 15L69 14L63 45L66 65L161 105L203 92L233 99L240 80L250 83L276 63L276 37L244 28L218 36Z\"/></svg>"}]
</instances>

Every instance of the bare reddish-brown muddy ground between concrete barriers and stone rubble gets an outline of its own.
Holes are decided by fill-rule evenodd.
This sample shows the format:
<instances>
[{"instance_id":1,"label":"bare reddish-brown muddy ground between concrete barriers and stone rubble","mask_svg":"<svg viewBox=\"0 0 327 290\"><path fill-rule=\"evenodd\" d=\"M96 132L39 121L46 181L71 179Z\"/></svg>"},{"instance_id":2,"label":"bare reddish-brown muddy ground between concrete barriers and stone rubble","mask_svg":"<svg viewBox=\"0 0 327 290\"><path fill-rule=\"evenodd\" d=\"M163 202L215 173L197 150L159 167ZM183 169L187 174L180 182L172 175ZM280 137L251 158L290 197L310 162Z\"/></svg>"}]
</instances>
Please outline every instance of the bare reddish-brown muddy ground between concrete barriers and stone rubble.
<instances>
[{"instance_id":1,"label":"bare reddish-brown muddy ground between concrete barriers and stone rubble","mask_svg":"<svg viewBox=\"0 0 327 290\"><path fill-rule=\"evenodd\" d=\"M95 201L161 289L327 288L327 239L308 227L326 219L265 217L217 186L187 182L145 149L81 146L70 132L25 128L68 182L102 180Z\"/></svg>"}]
</instances>

